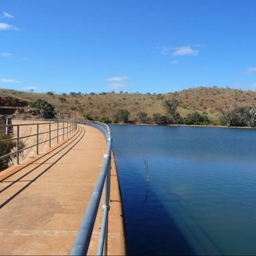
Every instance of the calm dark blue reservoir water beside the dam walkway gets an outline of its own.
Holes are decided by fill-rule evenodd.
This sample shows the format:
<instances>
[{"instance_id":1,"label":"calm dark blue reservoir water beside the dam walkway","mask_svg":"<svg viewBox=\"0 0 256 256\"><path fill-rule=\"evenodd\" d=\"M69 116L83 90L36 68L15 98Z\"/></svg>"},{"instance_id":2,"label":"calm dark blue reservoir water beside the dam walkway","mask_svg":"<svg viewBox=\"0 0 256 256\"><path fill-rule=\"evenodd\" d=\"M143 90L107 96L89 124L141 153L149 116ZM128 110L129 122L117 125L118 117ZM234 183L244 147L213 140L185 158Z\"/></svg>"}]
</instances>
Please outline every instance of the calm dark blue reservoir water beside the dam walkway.
<instances>
[{"instance_id":1,"label":"calm dark blue reservoir water beside the dam walkway","mask_svg":"<svg viewBox=\"0 0 256 256\"><path fill-rule=\"evenodd\" d=\"M130 255L256 254L256 131L111 131Z\"/></svg>"}]
</instances>

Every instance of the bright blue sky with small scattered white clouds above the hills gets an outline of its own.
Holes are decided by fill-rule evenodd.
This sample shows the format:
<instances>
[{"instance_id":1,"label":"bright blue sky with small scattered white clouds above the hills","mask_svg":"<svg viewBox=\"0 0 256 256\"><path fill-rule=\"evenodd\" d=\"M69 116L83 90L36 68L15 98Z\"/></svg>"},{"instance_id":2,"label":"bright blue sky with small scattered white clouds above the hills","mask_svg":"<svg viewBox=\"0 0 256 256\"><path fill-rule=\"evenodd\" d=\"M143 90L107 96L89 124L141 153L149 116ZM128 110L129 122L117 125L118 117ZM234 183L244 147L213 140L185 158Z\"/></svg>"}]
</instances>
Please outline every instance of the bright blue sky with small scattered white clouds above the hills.
<instances>
[{"instance_id":1,"label":"bright blue sky with small scattered white clouds above the hills","mask_svg":"<svg viewBox=\"0 0 256 256\"><path fill-rule=\"evenodd\" d=\"M0 88L256 90L256 1L1 0Z\"/></svg>"}]
</instances>

